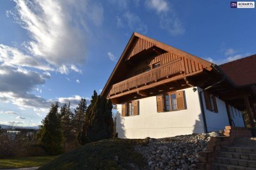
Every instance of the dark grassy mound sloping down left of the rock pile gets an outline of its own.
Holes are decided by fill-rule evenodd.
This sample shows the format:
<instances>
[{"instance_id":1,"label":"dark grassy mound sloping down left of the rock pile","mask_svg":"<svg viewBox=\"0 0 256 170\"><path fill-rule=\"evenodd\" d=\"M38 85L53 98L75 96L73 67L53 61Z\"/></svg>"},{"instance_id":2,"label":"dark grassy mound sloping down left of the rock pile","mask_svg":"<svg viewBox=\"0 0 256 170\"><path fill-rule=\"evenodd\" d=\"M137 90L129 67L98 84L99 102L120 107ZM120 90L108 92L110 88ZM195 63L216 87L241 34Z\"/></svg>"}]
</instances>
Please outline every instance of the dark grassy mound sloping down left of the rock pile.
<instances>
[{"instance_id":1,"label":"dark grassy mound sloping down left of the rock pile","mask_svg":"<svg viewBox=\"0 0 256 170\"><path fill-rule=\"evenodd\" d=\"M142 155L133 150L133 146L138 144L147 145L147 140L106 139L88 143L64 153L39 169L134 169L133 165L145 169ZM115 159L116 157L118 160Z\"/></svg>"}]
</instances>

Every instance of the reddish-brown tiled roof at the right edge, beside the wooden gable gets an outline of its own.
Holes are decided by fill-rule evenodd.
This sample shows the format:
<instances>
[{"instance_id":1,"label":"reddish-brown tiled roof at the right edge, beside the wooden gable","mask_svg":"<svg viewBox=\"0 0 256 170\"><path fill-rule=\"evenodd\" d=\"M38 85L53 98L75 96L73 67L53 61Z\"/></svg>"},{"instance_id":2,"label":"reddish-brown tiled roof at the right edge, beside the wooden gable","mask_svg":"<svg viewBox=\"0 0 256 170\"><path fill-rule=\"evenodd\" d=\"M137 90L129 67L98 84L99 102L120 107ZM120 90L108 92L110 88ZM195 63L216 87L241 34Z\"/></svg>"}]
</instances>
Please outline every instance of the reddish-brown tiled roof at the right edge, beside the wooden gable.
<instances>
[{"instance_id":1,"label":"reddish-brown tiled roof at the right edge, beside the wooden gable","mask_svg":"<svg viewBox=\"0 0 256 170\"><path fill-rule=\"evenodd\" d=\"M221 64L220 68L238 86L256 84L256 54Z\"/></svg>"}]
</instances>

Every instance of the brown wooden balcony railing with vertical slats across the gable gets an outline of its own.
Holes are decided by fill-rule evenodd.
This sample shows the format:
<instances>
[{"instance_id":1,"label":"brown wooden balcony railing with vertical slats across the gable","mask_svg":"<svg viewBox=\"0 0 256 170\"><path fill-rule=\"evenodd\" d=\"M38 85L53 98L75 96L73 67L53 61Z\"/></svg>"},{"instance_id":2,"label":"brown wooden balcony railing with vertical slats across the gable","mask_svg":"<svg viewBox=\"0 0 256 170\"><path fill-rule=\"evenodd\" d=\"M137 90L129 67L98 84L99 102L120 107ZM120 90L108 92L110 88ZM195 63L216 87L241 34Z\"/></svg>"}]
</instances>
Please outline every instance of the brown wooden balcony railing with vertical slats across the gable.
<instances>
[{"instance_id":1,"label":"brown wooden balcony railing with vertical slats across the gable","mask_svg":"<svg viewBox=\"0 0 256 170\"><path fill-rule=\"evenodd\" d=\"M184 61L182 61L182 58L176 59L164 64L163 66L159 66L145 73L133 76L127 80L115 83L109 91L109 96L138 88L143 85L147 85L148 83L171 77L174 74L183 73L184 71Z\"/></svg>"}]
</instances>

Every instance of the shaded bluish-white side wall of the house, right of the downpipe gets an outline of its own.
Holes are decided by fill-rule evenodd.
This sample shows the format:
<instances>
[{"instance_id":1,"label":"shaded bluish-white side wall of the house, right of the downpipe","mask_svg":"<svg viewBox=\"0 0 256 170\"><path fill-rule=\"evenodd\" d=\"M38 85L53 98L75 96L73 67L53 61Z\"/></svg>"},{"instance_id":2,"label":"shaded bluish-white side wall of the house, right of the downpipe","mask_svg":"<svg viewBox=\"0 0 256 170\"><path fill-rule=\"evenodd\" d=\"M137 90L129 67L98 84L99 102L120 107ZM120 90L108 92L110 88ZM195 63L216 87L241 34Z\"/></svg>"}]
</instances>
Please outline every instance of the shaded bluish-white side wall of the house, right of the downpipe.
<instances>
[{"instance_id":1,"label":"shaded bluish-white side wall of the house, right of the downpipe","mask_svg":"<svg viewBox=\"0 0 256 170\"><path fill-rule=\"evenodd\" d=\"M199 89L199 88L198 88ZM201 89L200 89L201 90ZM207 123L207 130L220 131L225 129L226 125L229 125L226 104L224 101L216 97L216 104L218 107L218 113L209 111L205 107L204 92L202 93L202 101L204 103L205 119Z\"/></svg>"}]
</instances>

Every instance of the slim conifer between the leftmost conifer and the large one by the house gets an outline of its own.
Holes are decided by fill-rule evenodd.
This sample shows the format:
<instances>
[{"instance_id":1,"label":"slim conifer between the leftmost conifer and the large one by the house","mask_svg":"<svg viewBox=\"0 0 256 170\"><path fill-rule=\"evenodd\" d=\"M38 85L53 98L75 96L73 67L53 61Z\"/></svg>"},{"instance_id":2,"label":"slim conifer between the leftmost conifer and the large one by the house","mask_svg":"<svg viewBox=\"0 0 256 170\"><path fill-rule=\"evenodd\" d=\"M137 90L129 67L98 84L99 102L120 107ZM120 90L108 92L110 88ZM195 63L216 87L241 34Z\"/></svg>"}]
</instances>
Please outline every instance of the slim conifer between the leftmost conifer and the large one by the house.
<instances>
[{"instance_id":1,"label":"slim conifer between the leftmost conifer and the large one by the house","mask_svg":"<svg viewBox=\"0 0 256 170\"><path fill-rule=\"evenodd\" d=\"M75 115L74 115L74 130L76 132L79 132L82 130L85 113L87 110L87 103L86 99L81 99L78 106L75 109Z\"/></svg>"}]
</instances>

